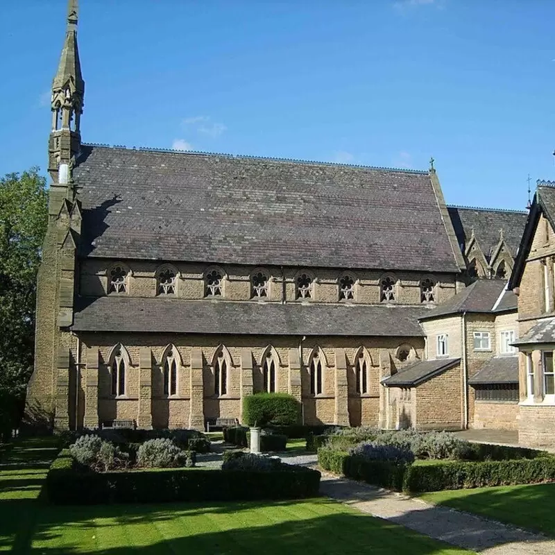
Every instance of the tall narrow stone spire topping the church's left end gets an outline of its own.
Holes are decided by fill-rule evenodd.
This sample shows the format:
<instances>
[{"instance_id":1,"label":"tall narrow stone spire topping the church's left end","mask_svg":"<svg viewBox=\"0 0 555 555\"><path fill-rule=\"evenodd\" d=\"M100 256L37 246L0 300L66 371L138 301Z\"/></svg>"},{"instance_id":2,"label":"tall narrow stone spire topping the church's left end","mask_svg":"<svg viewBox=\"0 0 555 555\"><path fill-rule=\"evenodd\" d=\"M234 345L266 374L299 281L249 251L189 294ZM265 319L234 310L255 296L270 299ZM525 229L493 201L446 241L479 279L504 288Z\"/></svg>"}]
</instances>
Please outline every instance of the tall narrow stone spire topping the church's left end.
<instances>
[{"instance_id":1,"label":"tall narrow stone spire topping the church's left end","mask_svg":"<svg viewBox=\"0 0 555 555\"><path fill-rule=\"evenodd\" d=\"M81 76L77 48L77 2L69 0L62 56L52 82L49 173L53 181L60 184L69 182L72 158L78 153L81 144L80 116L83 112L85 81Z\"/></svg>"}]
</instances>

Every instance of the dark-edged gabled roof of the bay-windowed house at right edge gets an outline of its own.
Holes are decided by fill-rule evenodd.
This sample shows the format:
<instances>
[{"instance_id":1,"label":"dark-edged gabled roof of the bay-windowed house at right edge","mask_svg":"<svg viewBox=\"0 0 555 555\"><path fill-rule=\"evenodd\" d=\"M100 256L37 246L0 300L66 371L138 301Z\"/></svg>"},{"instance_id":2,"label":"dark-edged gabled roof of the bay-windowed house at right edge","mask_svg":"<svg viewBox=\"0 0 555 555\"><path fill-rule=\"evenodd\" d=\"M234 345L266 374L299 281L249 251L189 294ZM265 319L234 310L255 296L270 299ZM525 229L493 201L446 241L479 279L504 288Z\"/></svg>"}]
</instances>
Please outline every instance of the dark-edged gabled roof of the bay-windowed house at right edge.
<instances>
[{"instance_id":1,"label":"dark-edged gabled roof of the bay-windowed house at right edge","mask_svg":"<svg viewBox=\"0 0 555 555\"><path fill-rule=\"evenodd\" d=\"M544 214L552 228L555 229L555 182L538 182L538 188L536 189L530 213L528 214L526 228L524 228L524 233L522 234L515 267L509 280L509 289L515 289L515 287L520 286L524 264L530 254L534 233L538 227L541 214Z\"/></svg>"}]
</instances>

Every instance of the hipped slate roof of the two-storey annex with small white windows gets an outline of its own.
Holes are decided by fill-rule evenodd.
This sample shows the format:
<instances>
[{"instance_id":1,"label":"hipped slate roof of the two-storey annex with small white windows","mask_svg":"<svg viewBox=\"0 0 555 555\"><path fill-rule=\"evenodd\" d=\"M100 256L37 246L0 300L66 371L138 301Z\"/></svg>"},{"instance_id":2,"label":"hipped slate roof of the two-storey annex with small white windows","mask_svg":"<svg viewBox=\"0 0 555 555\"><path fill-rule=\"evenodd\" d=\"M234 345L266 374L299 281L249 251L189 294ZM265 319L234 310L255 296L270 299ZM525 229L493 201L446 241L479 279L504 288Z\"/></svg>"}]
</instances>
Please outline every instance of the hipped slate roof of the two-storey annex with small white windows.
<instances>
[{"instance_id":1,"label":"hipped slate roof of the two-storey annex with small white windows","mask_svg":"<svg viewBox=\"0 0 555 555\"><path fill-rule=\"evenodd\" d=\"M505 284L504 280L477 280L438 307L426 312L420 317L420 320L460 312L490 312L503 293ZM516 310L516 296L512 291L506 299L504 294L502 300L504 307L502 309L497 307L499 310L496 311L511 308ZM511 304L513 304L513 307L510 306Z\"/></svg>"}]
</instances>

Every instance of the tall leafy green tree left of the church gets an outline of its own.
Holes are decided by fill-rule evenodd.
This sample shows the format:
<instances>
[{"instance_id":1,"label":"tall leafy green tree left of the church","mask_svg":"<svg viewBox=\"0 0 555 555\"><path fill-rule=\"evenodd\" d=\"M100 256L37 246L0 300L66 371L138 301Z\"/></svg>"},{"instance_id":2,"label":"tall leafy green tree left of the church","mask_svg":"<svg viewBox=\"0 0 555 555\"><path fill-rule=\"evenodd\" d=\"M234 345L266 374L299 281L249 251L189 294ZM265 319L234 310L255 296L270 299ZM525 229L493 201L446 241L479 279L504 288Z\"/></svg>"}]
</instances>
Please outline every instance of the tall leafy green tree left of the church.
<instances>
[{"instance_id":1,"label":"tall leafy green tree left of the church","mask_svg":"<svg viewBox=\"0 0 555 555\"><path fill-rule=\"evenodd\" d=\"M48 222L38 168L0 178L0 428L19 420L33 372L35 296Z\"/></svg>"}]
</instances>

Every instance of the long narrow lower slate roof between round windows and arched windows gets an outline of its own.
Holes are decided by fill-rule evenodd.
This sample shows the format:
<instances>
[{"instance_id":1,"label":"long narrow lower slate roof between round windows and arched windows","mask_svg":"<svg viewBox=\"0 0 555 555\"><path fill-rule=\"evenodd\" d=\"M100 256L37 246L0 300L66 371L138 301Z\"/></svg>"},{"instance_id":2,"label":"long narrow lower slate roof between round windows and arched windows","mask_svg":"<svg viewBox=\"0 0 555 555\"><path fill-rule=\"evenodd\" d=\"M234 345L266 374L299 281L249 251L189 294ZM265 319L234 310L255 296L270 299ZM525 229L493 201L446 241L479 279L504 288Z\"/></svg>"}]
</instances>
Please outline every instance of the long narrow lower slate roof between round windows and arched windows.
<instances>
[{"instance_id":1,"label":"long narrow lower slate roof between round windows and arched windows","mask_svg":"<svg viewBox=\"0 0 555 555\"><path fill-rule=\"evenodd\" d=\"M80 298L72 330L249 335L422 336L422 307L163 298Z\"/></svg>"}]
</instances>

